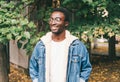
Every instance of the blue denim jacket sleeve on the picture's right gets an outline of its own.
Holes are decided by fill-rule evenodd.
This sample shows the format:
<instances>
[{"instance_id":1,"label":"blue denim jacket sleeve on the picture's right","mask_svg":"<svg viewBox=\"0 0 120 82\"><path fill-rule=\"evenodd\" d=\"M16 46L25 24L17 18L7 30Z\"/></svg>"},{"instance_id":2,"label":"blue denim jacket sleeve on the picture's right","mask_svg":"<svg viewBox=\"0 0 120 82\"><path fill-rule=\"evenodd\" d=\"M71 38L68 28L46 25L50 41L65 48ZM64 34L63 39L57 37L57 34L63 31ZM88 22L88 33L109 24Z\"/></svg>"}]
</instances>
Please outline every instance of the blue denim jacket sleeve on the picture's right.
<instances>
[{"instance_id":1,"label":"blue denim jacket sleeve on the picture's right","mask_svg":"<svg viewBox=\"0 0 120 82\"><path fill-rule=\"evenodd\" d=\"M91 66L91 63L89 61L89 53L84 45L81 48L81 52L82 52L81 53L82 58L81 58L80 79L85 80L85 82L87 82L88 78L90 76L90 73L92 71L92 66ZM84 81L82 81L82 82L84 82Z\"/></svg>"}]
</instances>

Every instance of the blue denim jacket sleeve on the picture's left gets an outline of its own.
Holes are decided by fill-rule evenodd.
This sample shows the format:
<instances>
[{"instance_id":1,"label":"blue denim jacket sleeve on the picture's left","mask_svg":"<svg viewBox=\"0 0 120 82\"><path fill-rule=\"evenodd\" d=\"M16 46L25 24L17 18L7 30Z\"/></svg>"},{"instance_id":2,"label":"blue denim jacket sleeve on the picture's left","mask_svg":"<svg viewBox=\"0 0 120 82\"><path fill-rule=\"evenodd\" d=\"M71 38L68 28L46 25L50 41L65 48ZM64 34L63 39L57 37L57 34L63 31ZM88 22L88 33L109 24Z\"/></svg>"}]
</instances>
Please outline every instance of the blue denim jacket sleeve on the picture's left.
<instances>
[{"instance_id":1,"label":"blue denim jacket sleeve on the picture's left","mask_svg":"<svg viewBox=\"0 0 120 82\"><path fill-rule=\"evenodd\" d=\"M35 46L29 61L29 74L33 82L38 82L38 62L37 62L37 46Z\"/></svg>"}]
</instances>

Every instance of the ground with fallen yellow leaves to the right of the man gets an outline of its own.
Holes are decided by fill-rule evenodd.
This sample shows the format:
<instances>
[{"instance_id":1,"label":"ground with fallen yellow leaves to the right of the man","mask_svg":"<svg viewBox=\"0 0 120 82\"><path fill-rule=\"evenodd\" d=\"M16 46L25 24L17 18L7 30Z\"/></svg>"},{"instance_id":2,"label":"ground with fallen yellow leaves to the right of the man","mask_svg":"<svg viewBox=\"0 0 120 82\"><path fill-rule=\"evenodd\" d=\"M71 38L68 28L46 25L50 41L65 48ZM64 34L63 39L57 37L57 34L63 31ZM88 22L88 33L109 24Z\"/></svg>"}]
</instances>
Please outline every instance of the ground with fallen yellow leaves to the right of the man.
<instances>
[{"instance_id":1,"label":"ground with fallen yellow leaves to the right of the man","mask_svg":"<svg viewBox=\"0 0 120 82\"><path fill-rule=\"evenodd\" d=\"M89 82L120 82L120 58L97 56L92 60Z\"/></svg>"}]
</instances>

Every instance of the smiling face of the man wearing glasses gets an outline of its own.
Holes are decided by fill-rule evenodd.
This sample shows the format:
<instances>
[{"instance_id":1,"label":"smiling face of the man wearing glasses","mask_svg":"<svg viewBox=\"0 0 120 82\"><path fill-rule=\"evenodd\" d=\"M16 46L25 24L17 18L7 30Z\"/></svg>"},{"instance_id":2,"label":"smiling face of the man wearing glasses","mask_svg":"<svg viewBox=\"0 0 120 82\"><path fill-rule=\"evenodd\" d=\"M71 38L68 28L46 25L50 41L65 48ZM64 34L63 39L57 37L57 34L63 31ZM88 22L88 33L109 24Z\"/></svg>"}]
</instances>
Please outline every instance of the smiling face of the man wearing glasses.
<instances>
[{"instance_id":1,"label":"smiling face of the man wearing glasses","mask_svg":"<svg viewBox=\"0 0 120 82\"><path fill-rule=\"evenodd\" d=\"M65 30L68 22L65 21L65 16L62 12L55 11L50 16L49 25L52 33L60 34Z\"/></svg>"}]
</instances>

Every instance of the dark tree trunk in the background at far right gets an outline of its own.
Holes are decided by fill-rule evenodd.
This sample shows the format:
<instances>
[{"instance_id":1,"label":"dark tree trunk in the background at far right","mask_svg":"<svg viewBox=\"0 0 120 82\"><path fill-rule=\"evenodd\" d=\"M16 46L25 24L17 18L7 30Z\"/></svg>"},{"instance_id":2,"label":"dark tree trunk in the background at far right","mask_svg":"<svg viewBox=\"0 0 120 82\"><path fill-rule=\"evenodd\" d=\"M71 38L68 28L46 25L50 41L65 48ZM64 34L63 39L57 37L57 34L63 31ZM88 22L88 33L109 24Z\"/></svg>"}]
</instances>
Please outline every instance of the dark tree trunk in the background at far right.
<instances>
[{"instance_id":1,"label":"dark tree trunk in the background at far right","mask_svg":"<svg viewBox=\"0 0 120 82\"><path fill-rule=\"evenodd\" d=\"M109 57L114 58L116 56L116 48L115 48L115 36L109 38Z\"/></svg>"}]
</instances>

